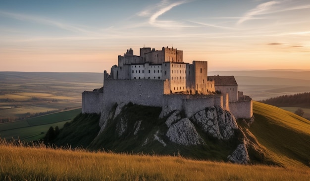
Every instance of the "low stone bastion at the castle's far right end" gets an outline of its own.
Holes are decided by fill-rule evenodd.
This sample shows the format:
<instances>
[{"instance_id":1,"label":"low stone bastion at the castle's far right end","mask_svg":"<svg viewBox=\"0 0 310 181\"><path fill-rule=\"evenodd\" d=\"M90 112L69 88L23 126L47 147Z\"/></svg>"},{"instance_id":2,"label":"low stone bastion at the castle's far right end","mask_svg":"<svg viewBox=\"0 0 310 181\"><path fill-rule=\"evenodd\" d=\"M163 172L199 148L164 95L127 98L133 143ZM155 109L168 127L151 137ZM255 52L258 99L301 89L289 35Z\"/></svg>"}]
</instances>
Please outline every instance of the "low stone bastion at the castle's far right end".
<instances>
[{"instance_id":1,"label":"low stone bastion at the castle's far right end","mask_svg":"<svg viewBox=\"0 0 310 181\"><path fill-rule=\"evenodd\" d=\"M236 119L253 117L253 100L237 101L229 103L229 110Z\"/></svg>"}]
</instances>

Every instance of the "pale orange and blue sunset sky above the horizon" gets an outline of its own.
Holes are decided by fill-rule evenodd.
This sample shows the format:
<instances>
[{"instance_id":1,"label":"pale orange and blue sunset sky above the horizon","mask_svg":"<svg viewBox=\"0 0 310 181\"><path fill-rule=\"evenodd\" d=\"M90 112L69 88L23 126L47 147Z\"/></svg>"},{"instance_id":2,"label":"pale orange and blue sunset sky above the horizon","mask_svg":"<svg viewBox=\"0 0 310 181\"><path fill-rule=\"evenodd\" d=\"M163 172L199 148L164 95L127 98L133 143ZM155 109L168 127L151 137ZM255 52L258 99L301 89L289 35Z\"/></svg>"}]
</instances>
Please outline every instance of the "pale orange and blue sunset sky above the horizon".
<instances>
[{"instance_id":1,"label":"pale orange and blue sunset sky above the horizon","mask_svg":"<svg viewBox=\"0 0 310 181\"><path fill-rule=\"evenodd\" d=\"M209 71L310 70L310 0L0 0L0 71L109 72L143 47Z\"/></svg>"}]
</instances>

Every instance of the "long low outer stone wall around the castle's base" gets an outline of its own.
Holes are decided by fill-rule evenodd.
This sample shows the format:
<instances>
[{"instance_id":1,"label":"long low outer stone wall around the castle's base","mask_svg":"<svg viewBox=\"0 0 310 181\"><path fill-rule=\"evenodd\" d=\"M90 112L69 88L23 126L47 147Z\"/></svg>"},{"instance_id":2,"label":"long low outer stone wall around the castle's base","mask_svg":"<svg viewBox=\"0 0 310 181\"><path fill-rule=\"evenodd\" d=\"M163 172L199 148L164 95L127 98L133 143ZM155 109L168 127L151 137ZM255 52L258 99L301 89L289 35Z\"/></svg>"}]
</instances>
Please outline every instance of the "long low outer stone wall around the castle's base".
<instances>
[{"instance_id":1,"label":"long low outer stone wall around the castle's base","mask_svg":"<svg viewBox=\"0 0 310 181\"><path fill-rule=\"evenodd\" d=\"M106 119L111 108L117 104L129 103L144 106L162 107L161 117L167 116L171 111L184 111L191 117L198 111L207 107L220 106L230 111L236 119L251 118L253 116L253 101L229 102L227 93L218 95L189 95L170 94L168 80L149 79L105 79L103 93L83 92L82 113L101 113Z\"/></svg>"}]
</instances>

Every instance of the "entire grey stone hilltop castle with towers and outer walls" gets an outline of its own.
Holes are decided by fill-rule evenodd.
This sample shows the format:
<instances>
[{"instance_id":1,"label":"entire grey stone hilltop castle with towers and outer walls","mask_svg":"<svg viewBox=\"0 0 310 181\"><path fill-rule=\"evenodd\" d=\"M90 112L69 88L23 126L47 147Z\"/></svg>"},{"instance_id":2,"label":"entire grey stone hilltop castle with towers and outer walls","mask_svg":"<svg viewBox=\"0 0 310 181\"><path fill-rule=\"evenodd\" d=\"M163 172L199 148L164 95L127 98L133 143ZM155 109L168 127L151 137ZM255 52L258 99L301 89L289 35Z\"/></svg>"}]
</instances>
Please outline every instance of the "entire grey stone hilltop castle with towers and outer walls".
<instances>
[{"instance_id":1,"label":"entire grey stone hilltop castle with towers and outer walls","mask_svg":"<svg viewBox=\"0 0 310 181\"><path fill-rule=\"evenodd\" d=\"M82 113L101 114L101 120L115 104L162 107L161 117L174 110L191 117L211 106L230 111L236 119L253 117L253 101L238 91L234 76L207 76L207 61L183 62L183 51L132 49L118 56L118 65L103 73L103 88L82 93Z\"/></svg>"}]
</instances>

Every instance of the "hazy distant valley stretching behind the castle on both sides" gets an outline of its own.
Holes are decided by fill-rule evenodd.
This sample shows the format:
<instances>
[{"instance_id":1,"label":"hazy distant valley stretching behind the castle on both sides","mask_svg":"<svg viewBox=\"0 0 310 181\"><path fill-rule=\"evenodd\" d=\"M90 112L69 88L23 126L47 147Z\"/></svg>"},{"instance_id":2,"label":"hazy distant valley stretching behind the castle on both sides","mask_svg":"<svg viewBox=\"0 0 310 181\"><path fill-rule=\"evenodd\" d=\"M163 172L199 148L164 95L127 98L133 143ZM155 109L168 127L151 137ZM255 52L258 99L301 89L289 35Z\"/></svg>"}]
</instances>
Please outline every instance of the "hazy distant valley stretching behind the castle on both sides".
<instances>
[{"instance_id":1,"label":"hazy distant valley stretching behind the castle on both sides","mask_svg":"<svg viewBox=\"0 0 310 181\"><path fill-rule=\"evenodd\" d=\"M211 71L234 75L239 91L259 101L310 92L310 71ZM81 107L81 93L103 86L103 73L0 72L0 120L15 121Z\"/></svg>"}]
</instances>

